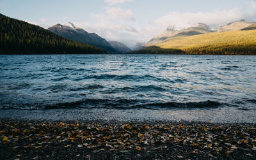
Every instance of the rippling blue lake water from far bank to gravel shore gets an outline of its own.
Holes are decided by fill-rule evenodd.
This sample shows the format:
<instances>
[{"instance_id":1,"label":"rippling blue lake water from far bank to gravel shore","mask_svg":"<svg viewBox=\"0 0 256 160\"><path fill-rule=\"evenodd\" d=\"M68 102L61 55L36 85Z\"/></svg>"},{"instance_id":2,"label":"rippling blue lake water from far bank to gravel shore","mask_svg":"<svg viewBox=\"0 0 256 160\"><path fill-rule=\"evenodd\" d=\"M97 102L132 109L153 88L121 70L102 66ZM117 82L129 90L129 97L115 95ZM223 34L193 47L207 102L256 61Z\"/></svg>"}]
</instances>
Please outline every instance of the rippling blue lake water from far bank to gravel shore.
<instances>
[{"instance_id":1,"label":"rippling blue lake water from far bank to gravel shore","mask_svg":"<svg viewBox=\"0 0 256 160\"><path fill-rule=\"evenodd\" d=\"M256 56L0 55L0 73L0 117L256 122Z\"/></svg>"}]
</instances>

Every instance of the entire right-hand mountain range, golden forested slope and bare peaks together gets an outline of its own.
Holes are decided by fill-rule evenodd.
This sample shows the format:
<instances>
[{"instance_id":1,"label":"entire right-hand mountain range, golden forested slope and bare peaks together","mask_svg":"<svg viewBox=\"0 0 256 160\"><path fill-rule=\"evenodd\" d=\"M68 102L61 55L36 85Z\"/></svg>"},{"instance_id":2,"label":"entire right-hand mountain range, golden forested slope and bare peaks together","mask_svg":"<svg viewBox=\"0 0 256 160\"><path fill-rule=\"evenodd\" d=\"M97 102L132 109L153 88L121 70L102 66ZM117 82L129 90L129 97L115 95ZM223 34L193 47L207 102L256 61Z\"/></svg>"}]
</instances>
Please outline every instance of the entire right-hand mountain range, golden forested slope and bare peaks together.
<instances>
[{"instance_id":1,"label":"entire right-hand mountain range, golden forested slope and bare peaks together","mask_svg":"<svg viewBox=\"0 0 256 160\"><path fill-rule=\"evenodd\" d=\"M211 28L198 24L183 30L168 27L130 54L256 55L256 23L240 20Z\"/></svg>"}]
</instances>

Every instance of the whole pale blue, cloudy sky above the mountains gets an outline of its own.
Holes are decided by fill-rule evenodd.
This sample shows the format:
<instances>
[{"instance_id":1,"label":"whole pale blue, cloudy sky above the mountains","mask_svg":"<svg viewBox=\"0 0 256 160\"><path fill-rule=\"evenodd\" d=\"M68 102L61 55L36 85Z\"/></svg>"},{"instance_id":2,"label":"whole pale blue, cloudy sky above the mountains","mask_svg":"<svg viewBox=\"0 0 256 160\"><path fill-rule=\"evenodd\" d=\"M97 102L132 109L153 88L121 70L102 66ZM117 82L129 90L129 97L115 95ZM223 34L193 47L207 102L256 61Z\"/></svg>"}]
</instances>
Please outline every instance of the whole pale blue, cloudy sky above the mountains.
<instances>
[{"instance_id":1,"label":"whole pale blue, cloudy sky above the mountains","mask_svg":"<svg viewBox=\"0 0 256 160\"><path fill-rule=\"evenodd\" d=\"M89 33L133 47L169 25L199 22L215 27L245 19L256 21L256 0L0 0L0 13L47 29L73 22Z\"/></svg>"}]
</instances>

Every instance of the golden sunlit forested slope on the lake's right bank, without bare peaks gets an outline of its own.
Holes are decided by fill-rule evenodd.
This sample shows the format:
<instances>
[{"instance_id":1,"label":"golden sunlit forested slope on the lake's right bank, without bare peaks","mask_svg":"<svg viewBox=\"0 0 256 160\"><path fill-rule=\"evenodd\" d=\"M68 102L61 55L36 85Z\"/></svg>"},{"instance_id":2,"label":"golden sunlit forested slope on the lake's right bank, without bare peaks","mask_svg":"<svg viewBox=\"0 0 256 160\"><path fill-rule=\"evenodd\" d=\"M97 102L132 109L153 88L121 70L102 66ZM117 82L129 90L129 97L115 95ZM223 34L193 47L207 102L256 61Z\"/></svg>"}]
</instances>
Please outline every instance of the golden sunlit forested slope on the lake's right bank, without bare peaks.
<instances>
[{"instance_id":1,"label":"golden sunlit forested slope on the lake's right bank, without bare peaks","mask_svg":"<svg viewBox=\"0 0 256 160\"><path fill-rule=\"evenodd\" d=\"M254 54L256 30L208 33L169 38L156 46L184 51L186 54Z\"/></svg>"}]
</instances>

